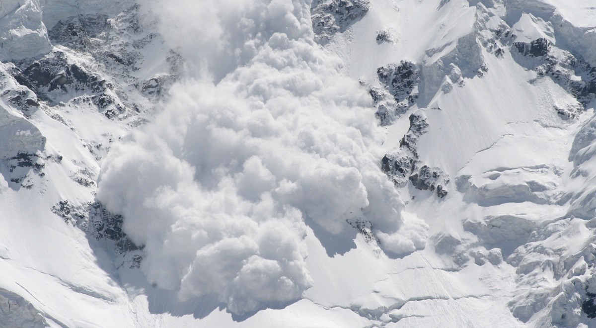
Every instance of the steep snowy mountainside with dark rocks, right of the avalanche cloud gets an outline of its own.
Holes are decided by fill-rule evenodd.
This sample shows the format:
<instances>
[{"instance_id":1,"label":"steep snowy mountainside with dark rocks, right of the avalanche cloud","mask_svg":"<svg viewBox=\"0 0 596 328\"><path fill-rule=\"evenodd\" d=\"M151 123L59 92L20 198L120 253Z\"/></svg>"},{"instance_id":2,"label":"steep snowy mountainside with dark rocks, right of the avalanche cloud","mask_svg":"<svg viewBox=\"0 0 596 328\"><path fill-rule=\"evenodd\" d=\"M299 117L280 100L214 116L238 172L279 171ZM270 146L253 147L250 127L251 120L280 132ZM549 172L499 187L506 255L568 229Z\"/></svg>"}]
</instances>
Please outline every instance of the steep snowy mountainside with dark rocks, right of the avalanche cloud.
<instances>
[{"instance_id":1,"label":"steep snowy mountainside with dark rocks, right of the avalanche cloud","mask_svg":"<svg viewBox=\"0 0 596 328\"><path fill-rule=\"evenodd\" d=\"M411 198L406 211L429 224L434 252L452 262L457 281L476 280L505 296L477 293L476 304L493 298L485 308L492 314L497 304L511 311L493 320L513 315L520 321L511 325L594 325L593 226L585 221L594 218L593 194L589 173L578 168L591 143L596 34L586 17L594 4L371 5L326 48L342 55L350 76L371 85L373 97L379 90L397 102L401 92L415 95L407 112L401 103L378 101L377 107L389 121L386 171L402 186L402 197ZM390 38L375 45L379 31ZM374 50L361 51L363 45ZM397 69L388 79L378 67ZM408 116L409 127L400 123ZM437 187L448 194L424 191ZM471 270L484 271L482 278ZM442 320L461 320L467 312L444 301L398 312L412 317L408 324L425 324L429 318L420 317L429 316L429 307L448 313Z\"/></svg>"}]
</instances>

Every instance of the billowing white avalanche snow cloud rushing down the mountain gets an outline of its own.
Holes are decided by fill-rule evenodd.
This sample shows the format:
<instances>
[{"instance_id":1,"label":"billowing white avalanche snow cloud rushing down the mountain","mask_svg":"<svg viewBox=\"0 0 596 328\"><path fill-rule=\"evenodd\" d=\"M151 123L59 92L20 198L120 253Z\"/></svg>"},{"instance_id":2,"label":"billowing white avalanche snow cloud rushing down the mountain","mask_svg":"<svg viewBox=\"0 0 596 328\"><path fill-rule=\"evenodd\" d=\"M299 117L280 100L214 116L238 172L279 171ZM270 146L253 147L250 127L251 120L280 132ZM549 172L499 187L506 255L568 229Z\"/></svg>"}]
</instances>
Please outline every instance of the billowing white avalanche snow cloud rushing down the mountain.
<instances>
[{"instance_id":1,"label":"billowing white avalanche snow cloud rushing down the mountain","mask_svg":"<svg viewBox=\"0 0 596 328\"><path fill-rule=\"evenodd\" d=\"M380 169L370 97L313 43L307 0L176 0L162 33L187 61L154 123L115 145L98 199L145 245L142 270L235 314L299 299L308 216L373 224L392 253L424 247Z\"/></svg>"}]
</instances>

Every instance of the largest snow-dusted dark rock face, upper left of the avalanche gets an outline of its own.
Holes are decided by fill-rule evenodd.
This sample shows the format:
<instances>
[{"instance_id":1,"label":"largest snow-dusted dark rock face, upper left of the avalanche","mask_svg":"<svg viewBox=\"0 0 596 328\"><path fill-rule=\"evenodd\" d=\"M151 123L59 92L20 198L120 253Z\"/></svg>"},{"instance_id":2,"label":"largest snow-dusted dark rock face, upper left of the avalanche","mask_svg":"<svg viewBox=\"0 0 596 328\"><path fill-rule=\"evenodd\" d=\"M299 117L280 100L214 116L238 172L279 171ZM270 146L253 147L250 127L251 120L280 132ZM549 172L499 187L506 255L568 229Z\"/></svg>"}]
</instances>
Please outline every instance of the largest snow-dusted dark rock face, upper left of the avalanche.
<instances>
[{"instance_id":1,"label":"largest snow-dusted dark rock face, upper left of the avalanche","mask_svg":"<svg viewBox=\"0 0 596 328\"><path fill-rule=\"evenodd\" d=\"M55 47L41 57L7 64L13 65L7 71L18 88L10 93L3 91L0 97L25 115L35 112L40 103L49 107L75 105L96 107L110 119L132 118L131 126L139 125L143 120L134 120L135 114L151 107L154 100L166 94L164 89L176 81L182 66L182 57L176 52L162 53L160 55L167 56L169 72L139 81L134 72L144 60L142 49L161 38L157 33L144 32L145 27L155 29L157 20L141 20L139 8L140 5L133 5L111 18L104 14L85 14L58 21L48 35L52 43L69 49ZM152 80L159 85L151 85ZM131 86L136 85L144 85L143 91L139 90L144 97L131 95ZM53 117L69 124L57 115Z\"/></svg>"}]
</instances>

